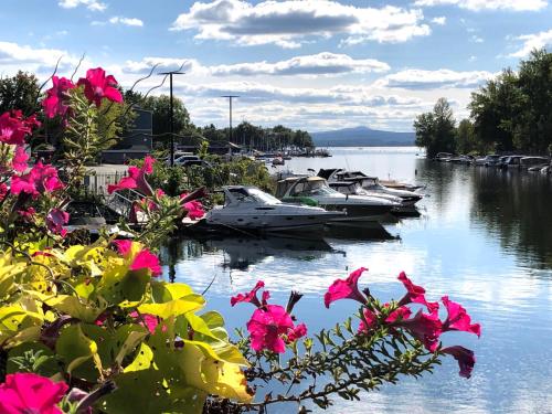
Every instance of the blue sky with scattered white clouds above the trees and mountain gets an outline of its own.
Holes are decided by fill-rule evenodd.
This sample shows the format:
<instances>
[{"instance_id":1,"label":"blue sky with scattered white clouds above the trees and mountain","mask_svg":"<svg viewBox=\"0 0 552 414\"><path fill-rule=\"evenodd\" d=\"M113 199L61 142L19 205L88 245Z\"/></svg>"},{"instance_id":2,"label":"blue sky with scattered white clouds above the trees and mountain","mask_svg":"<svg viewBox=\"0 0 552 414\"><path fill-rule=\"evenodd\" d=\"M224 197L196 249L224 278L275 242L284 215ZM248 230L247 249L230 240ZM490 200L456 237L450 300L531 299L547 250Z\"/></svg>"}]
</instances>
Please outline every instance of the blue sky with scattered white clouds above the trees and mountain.
<instances>
[{"instance_id":1,"label":"blue sky with scattered white clouds above the trees and mountain","mask_svg":"<svg viewBox=\"0 0 552 414\"><path fill-rule=\"evenodd\" d=\"M0 11L2 75L46 78L60 56L71 75L85 54L81 72L103 66L129 86L156 63L184 63L176 92L198 125L225 126L219 96L235 94L237 121L412 130L442 96L466 117L471 91L543 46L549 0L2 0Z\"/></svg>"}]
</instances>

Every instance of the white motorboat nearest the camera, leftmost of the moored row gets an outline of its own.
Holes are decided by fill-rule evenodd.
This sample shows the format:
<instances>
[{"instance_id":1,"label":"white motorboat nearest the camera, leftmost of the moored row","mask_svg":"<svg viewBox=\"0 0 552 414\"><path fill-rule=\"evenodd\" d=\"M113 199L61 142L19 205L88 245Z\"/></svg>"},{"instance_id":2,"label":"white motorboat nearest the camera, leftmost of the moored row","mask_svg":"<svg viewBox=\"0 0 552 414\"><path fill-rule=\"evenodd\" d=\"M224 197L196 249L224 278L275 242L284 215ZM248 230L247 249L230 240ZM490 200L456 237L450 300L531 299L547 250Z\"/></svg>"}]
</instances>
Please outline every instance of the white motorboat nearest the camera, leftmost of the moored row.
<instances>
[{"instance_id":1,"label":"white motorboat nearest the camera, leftmost of the moored row","mask_svg":"<svg viewBox=\"0 0 552 414\"><path fill-rule=\"evenodd\" d=\"M255 187L226 185L222 192L224 205L205 214L208 225L259 232L316 231L344 216L343 212L283 203Z\"/></svg>"}]
</instances>

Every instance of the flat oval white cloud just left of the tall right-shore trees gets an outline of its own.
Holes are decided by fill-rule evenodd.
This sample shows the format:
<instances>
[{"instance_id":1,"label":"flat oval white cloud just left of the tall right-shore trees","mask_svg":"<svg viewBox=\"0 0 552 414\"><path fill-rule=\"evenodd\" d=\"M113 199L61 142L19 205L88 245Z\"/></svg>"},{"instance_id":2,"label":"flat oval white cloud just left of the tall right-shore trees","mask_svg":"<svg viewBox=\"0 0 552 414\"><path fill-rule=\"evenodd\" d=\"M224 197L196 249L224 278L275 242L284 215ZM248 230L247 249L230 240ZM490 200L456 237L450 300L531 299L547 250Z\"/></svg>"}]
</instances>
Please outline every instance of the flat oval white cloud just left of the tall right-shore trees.
<instances>
[{"instance_id":1,"label":"flat oval white cloud just left of the tall right-shore trees","mask_svg":"<svg viewBox=\"0 0 552 414\"><path fill-rule=\"evenodd\" d=\"M474 88L495 75L486 71L401 71L378 81L379 85L403 89Z\"/></svg>"}]
</instances>

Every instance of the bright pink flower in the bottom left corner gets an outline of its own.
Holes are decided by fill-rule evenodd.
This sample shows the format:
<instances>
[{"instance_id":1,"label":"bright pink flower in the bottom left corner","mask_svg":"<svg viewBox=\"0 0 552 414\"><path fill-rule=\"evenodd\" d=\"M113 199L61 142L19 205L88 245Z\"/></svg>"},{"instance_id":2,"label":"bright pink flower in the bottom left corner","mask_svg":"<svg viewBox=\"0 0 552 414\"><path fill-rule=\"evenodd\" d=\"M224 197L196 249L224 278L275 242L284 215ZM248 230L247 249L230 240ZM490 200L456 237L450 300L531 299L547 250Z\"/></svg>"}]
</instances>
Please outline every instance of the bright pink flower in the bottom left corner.
<instances>
[{"instance_id":1,"label":"bright pink flower in the bottom left corner","mask_svg":"<svg viewBox=\"0 0 552 414\"><path fill-rule=\"evenodd\" d=\"M67 384L34 373L8 374L0 385L2 414L62 414L56 404L67 392Z\"/></svg>"}]
</instances>

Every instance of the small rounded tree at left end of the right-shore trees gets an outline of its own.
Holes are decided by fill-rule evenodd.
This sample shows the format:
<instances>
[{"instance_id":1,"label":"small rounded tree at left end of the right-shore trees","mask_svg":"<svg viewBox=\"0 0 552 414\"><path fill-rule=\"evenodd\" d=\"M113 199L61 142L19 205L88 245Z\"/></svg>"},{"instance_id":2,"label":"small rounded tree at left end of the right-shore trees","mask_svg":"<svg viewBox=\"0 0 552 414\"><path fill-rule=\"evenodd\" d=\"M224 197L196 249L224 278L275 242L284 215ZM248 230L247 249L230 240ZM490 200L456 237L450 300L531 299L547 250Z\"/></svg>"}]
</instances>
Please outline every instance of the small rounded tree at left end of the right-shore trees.
<instances>
[{"instance_id":1,"label":"small rounded tree at left end of the right-shore trees","mask_svg":"<svg viewBox=\"0 0 552 414\"><path fill-rule=\"evenodd\" d=\"M414 121L416 145L424 147L427 157L455 151L455 119L446 98L439 98L432 113L418 115Z\"/></svg>"}]
</instances>

